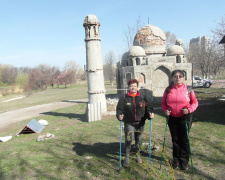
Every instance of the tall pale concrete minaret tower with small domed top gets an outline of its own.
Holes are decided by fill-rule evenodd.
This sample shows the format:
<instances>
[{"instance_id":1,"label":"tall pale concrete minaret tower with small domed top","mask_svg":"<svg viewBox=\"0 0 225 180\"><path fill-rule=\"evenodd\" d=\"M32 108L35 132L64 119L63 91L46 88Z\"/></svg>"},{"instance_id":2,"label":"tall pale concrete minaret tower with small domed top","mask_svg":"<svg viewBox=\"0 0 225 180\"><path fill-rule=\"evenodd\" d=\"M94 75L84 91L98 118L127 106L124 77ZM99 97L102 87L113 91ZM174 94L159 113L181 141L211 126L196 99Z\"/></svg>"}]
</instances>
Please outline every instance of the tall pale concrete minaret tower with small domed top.
<instances>
[{"instance_id":1,"label":"tall pale concrete minaret tower with small domed top","mask_svg":"<svg viewBox=\"0 0 225 180\"><path fill-rule=\"evenodd\" d=\"M99 36L98 18L90 14L85 17L86 71L88 80L89 104L100 102L101 114L107 111L105 85L101 56L101 38Z\"/></svg>"}]
</instances>

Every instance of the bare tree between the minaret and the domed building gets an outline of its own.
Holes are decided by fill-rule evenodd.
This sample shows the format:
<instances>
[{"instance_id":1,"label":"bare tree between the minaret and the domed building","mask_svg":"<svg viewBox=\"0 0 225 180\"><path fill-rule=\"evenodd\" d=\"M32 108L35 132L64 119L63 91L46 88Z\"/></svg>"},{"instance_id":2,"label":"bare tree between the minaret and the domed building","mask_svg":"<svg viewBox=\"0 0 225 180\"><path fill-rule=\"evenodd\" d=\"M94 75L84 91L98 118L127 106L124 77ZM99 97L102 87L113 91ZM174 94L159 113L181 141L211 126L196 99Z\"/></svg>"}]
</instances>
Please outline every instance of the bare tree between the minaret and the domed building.
<instances>
[{"instance_id":1,"label":"bare tree between the minaret and the domed building","mask_svg":"<svg viewBox=\"0 0 225 180\"><path fill-rule=\"evenodd\" d=\"M115 54L113 51L109 51L105 56L104 76L105 79L109 80L111 85L116 78L116 68L115 68Z\"/></svg>"}]
</instances>

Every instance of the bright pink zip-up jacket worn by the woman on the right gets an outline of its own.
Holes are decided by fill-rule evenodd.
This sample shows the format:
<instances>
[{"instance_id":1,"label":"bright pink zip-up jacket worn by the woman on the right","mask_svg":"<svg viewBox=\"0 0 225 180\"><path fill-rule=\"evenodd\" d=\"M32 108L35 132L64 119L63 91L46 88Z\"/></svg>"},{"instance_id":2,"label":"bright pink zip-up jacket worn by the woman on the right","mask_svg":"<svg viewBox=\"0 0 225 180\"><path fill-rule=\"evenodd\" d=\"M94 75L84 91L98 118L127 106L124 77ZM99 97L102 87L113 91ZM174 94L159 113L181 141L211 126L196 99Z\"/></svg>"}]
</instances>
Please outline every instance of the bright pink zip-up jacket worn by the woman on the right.
<instances>
[{"instance_id":1,"label":"bright pink zip-up jacket worn by the woman on the right","mask_svg":"<svg viewBox=\"0 0 225 180\"><path fill-rule=\"evenodd\" d=\"M188 93L185 84L179 86L172 85L168 94L166 94L166 90L164 91L161 106L163 112L169 109L171 111L171 116L181 117L184 116L181 111L182 108L187 108L189 112L192 113L197 109L198 101L194 91Z\"/></svg>"}]
</instances>

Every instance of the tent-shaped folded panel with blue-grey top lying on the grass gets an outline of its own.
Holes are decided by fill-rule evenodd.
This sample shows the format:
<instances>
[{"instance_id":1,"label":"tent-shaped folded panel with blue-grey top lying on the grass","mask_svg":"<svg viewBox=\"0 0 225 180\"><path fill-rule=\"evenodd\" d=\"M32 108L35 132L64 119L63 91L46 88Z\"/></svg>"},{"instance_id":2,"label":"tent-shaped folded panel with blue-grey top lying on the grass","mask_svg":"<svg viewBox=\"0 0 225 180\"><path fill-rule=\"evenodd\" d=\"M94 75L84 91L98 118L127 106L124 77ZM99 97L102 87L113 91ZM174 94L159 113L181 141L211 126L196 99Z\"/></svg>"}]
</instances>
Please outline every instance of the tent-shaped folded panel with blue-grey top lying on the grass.
<instances>
[{"instance_id":1,"label":"tent-shaped folded panel with blue-grey top lying on the grass","mask_svg":"<svg viewBox=\"0 0 225 180\"><path fill-rule=\"evenodd\" d=\"M40 133L45 126L38 123L35 119L32 119L22 130L20 130L16 135L20 134L31 134Z\"/></svg>"}]
</instances>

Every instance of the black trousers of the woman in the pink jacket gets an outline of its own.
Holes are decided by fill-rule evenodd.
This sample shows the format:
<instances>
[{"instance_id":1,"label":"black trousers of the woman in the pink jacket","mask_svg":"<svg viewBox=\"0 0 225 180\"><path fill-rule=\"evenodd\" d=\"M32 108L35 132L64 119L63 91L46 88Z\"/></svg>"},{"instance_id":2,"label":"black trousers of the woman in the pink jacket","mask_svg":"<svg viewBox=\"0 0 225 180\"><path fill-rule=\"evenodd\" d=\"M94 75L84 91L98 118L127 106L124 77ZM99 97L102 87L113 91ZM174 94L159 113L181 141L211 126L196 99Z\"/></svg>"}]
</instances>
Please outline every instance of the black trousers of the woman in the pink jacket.
<instances>
[{"instance_id":1,"label":"black trousers of the woman in the pink jacket","mask_svg":"<svg viewBox=\"0 0 225 180\"><path fill-rule=\"evenodd\" d=\"M168 126L173 143L173 162L188 164L189 146L185 119L187 120L188 132L191 128L191 114L182 117L169 116Z\"/></svg>"}]
</instances>

